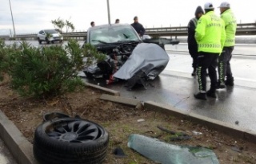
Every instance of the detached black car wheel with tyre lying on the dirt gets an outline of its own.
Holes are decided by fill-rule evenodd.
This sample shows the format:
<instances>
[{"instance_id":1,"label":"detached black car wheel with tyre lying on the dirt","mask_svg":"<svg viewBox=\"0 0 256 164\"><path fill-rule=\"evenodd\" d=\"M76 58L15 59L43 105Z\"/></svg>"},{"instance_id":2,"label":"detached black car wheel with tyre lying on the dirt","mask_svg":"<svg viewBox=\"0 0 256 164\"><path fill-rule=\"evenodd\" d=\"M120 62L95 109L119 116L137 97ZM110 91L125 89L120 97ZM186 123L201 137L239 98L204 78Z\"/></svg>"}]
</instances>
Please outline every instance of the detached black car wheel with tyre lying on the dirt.
<instances>
[{"instance_id":1,"label":"detached black car wheel with tyre lying on the dirt","mask_svg":"<svg viewBox=\"0 0 256 164\"><path fill-rule=\"evenodd\" d=\"M102 163L109 135L97 123L62 118L42 123L34 132L34 157L40 164Z\"/></svg>"}]
</instances>

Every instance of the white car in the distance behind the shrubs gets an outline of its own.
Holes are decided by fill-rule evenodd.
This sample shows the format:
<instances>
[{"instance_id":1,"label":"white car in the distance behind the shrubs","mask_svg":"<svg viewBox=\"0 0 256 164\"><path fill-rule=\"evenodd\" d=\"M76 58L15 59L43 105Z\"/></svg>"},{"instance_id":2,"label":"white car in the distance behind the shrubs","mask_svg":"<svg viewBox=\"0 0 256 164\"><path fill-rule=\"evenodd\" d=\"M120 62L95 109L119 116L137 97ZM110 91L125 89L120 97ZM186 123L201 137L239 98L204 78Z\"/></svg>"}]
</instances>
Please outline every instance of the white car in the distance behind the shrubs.
<instances>
[{"instance_id":1,"label":"white car in the distance behind the shrubs","mask_svg":"<svg viewBox=\"0 0 256 164\"><path fill-rule=\"evenodd\" d=\"M42 29L38 32L38 43L42 44L42 41L46 41L47 44L58 41L62 43L63 37L56 29Z\"/></svg>"}]
</instances>

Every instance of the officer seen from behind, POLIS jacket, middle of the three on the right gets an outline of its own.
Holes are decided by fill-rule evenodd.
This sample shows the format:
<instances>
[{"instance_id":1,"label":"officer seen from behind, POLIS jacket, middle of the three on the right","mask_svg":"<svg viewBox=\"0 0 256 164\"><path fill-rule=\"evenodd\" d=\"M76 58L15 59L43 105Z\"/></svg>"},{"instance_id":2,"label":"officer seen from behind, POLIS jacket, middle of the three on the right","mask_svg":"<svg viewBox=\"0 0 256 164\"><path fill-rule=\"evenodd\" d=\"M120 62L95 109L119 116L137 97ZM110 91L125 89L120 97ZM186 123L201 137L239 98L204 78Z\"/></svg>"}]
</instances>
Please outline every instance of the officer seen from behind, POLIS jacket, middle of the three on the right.
<instances>
[{"instance_id":1,"label":"officer seen from behind, POLIS jacket, middle of the three on the right","mask_svg":"<svg viewBox=\"0 0 256 164\"><path fill-rule=\"evenodd\" d=\"M222 18L214 14L214 6L207 2L205 13L198 20L195 29L195 39L198 42L198 85L199 92L196 99L206 100L206 95L216 98L218 56L226 39L225 27ZM206 92L206 69L210 77L210 90Z\"/></svg>"}]
</instances>

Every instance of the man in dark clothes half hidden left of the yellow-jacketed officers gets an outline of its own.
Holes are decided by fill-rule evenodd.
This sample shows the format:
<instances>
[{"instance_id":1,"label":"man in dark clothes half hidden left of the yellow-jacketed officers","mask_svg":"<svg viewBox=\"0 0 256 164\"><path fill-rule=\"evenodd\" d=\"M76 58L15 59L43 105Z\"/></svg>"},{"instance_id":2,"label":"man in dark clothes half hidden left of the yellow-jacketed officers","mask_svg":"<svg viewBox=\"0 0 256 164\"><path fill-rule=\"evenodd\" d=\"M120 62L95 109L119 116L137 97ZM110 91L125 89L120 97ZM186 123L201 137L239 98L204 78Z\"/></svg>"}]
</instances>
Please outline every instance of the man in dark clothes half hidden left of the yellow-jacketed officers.
<instances>
[{"instance_id":1,"label":"man in dark clothes half hidden left of the yellow-jacketed officers","mask_svg":"<svg viewBox=\"0 0 256 164\"><path fill-rule=\"evenodd\" d=\"M187 29L188 29L187 44L188 44L190 56L193 59L192 67L194 68L191 74L192 76L195 76L198 70L198 43L197 41L195 41L195 38L194 38L194 33L195 33L194 29L198 25L198 19L201 18L203 14L204 12L202 10L202 7L198 6L194 12L195 17L190 19L190 22L187 25Z\"/></svg>"}]
</instances>

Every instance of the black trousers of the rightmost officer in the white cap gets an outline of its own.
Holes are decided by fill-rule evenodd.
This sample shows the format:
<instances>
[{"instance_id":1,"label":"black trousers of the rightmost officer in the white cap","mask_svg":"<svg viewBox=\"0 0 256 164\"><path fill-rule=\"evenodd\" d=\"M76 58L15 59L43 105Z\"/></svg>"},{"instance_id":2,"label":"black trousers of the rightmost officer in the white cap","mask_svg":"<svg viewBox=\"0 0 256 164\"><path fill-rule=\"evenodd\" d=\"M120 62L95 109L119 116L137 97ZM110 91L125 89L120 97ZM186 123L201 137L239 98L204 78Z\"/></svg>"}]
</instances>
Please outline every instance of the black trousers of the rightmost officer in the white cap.
<instances>
[{"instance_id":1,"label":"black trousers of the rightmost officer in the white cap","mask_svg":"<svg viewBox=\"0 0 256 164\"><path fill-rule=\"evenodd\" d=\"M230 67L233 49L234 46L224 47L221 55L218 57L218 80L220 82L224 82L225 78L228 81L234 80Z\"/></svg>"}]
</instances>

